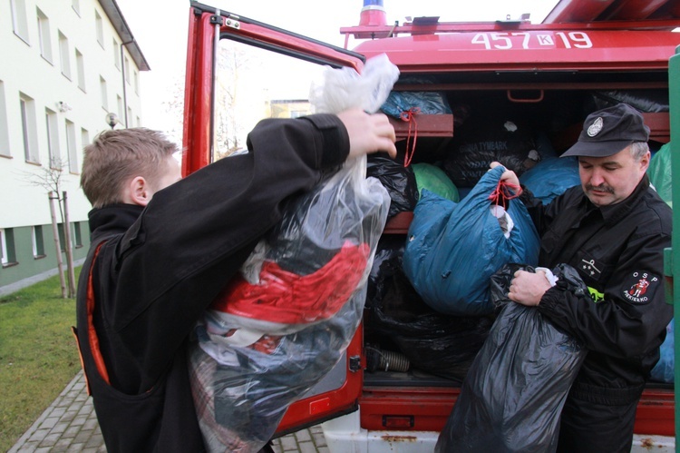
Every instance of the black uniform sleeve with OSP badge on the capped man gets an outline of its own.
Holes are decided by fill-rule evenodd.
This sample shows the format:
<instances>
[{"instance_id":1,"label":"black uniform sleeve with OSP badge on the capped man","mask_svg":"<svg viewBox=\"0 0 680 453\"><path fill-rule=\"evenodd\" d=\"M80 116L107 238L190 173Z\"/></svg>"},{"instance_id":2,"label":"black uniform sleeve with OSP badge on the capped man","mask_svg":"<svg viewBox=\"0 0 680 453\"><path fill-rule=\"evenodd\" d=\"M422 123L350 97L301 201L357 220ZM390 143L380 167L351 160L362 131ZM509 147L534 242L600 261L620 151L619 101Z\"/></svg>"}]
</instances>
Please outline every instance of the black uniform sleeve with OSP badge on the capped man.
<instances>
[{"instance_id":1,"label":"black uniform sleeve with OSP badge on the capped man","mask_svg":"<svg viewBox=\"0 0 680 453\"><path fill-rule=\"evenodd\" d=\"M630 358L656 349L673 317L665 303L665 247L670 247L669 234L634 235L604 291L578 297L558 284L544 294L539 311L589 350Z\"/></svg>"}]
</instances>

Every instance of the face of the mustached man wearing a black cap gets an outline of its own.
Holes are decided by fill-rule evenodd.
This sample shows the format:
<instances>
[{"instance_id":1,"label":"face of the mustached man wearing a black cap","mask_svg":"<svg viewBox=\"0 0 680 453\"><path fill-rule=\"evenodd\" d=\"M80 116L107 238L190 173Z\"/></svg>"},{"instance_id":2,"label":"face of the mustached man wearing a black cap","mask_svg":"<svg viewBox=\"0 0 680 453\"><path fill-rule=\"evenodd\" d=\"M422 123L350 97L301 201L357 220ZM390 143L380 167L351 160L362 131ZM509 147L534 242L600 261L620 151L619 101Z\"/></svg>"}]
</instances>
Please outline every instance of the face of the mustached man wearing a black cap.
<instances>
[{"instance_id":1,"label":"face of the mustached man wearing a black cap","mask_svg":"<svg viewBox=\"0 0 680 453\"><path fill-rule=\"evenodd\" d=\"M596 206L625 200L635 190L649 166L649 152L636 161L630 147L607 157L578 157L581 187Z\"/></svg>"}]
</instances>

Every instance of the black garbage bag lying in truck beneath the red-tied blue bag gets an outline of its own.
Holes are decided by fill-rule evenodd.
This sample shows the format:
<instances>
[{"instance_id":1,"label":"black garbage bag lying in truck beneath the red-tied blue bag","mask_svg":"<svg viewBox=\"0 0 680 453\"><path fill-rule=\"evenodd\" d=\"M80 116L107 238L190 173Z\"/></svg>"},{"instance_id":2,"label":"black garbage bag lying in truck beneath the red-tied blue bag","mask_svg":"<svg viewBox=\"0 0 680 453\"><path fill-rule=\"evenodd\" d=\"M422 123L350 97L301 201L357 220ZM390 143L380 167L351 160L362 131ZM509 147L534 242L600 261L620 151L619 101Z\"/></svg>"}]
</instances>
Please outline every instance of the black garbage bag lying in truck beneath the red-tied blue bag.
<instances>
[{"instance_id":1,"label":"black garbage bag lying in truck beneath the red-tied blue bag","mask_svg":"<svg viewBox=\"0 0 680 453\"><path fill-rule=\"evenodd\" d=\"M389 339L412 368L462 380L491 330L490 317L452 316L432 310L402 270L404 241L384 237L375 251L366 308L367 336Z\"/></svg>"}]
</instances>

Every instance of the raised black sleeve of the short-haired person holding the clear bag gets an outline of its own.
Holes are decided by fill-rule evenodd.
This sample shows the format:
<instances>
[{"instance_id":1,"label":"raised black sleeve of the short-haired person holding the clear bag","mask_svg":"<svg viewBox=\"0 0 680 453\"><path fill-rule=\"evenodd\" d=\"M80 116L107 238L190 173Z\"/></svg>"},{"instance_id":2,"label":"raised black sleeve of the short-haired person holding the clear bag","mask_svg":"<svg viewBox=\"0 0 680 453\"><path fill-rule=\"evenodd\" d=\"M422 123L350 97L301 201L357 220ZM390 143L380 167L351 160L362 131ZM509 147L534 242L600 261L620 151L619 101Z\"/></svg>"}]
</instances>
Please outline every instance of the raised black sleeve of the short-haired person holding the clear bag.
<instances>
[{"instance_id":1,"label":"raised black sleeve of the short-haired person holding the clear bag","mask_svg":"<svg viewBox=\"0 0 680 453\"><path fill-rule=\"evenodd\" d=\"M151 385L290 197L345 161L349 137L335 115L266 120L248 148L157 192L121 241L107 318Z\"/></svg>"}]
</instances>

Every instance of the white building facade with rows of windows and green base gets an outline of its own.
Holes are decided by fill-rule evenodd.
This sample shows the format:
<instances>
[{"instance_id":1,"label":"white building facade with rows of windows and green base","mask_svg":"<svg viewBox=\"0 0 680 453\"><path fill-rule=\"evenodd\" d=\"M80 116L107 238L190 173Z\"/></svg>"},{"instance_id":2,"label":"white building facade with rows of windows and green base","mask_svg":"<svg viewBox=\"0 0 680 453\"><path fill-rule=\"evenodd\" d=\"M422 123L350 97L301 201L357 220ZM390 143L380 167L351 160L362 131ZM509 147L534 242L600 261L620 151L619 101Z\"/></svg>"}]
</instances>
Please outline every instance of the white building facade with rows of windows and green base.
<instances>
[{"instance_id":1,"label":"white building facade with rows of windows and green base","mask_svg":"<svg viewBox=\"0 0 680 453\"><path fill-rule=\"evenodd\" d=\"M83 147L141 125L140 71L150 68L115 0L0 0L0 43L3 295L56 274L53 217L65 263L63 202L50 192L66 195L73 261L83 260Z\"/></svg>"}]
</instances>

